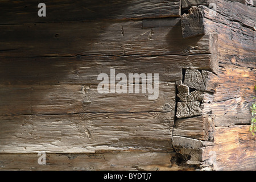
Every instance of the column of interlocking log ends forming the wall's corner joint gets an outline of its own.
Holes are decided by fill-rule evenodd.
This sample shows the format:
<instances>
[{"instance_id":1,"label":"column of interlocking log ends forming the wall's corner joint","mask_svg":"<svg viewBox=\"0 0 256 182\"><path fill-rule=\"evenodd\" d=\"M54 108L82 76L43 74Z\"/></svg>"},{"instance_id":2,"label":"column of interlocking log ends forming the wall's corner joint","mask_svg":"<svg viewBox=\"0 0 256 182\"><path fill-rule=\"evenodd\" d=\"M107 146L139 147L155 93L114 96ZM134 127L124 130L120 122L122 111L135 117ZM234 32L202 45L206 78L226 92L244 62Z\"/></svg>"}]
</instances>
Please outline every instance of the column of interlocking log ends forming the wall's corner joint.
<instances>
[{"instance_id":1,"label":"column of interlocking log ends forming the wall's corner joint","mask_svg":"<svg viewBox=\"0 0 256 182\"><path fill-rule=\"evenodd\" d=\"M218 87L218 35L207 30L204 15L198 7L191 7L188 12L181 16L183 38L209 34L212 55L210 69L184 68L183 80L176 81L176 121L172 142L174 150L186 160L186 164L212 170L213 158L209 155L214 155L214 151L205 154L205 148L214 145L214 115L210 106Z\"/></svg>"}]
</instances>

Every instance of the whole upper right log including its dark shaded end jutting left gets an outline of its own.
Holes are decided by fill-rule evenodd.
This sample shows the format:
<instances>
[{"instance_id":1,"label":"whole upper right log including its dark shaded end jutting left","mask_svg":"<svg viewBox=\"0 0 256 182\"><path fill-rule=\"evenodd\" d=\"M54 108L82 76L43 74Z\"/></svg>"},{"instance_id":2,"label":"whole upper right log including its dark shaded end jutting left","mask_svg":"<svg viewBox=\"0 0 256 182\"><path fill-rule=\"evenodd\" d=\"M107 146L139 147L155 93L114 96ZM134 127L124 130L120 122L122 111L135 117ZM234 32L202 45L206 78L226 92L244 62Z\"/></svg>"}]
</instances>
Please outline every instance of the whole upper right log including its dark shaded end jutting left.
<instances>
[{"instance_id":1,"label":"whole upper right log including its dark shaded end jutting left","mask_svg":"<svg viewBox=\"0 0 256 182\"><path fill-rule=\"evenodd\" d=\"M181 17L181 24L183 25L184 37L209 32L218 33L220 65L231 62L242 67L255 68L255 30L253 28L229 20L220 13L212 16L205 6L192 7L189 14L184 14Z\"/></svg>"}]
</instances>

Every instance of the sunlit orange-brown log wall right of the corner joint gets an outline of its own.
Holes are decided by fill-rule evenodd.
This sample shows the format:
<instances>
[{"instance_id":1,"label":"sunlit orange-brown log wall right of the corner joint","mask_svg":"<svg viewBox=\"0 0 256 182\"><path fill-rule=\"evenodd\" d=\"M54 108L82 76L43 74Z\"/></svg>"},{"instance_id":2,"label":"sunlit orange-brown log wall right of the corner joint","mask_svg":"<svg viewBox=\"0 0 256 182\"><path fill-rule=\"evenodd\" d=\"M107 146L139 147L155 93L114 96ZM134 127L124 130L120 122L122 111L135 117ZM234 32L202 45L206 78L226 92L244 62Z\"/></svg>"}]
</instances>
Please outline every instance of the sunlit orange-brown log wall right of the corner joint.
<instances>
[{"instance_id":1,"label":"sunlit orange-brown log wall right of the corner joint","mask_svg":"<svg viewBox=\"0 0 256 182\"><path fill-rule=\"evenodd\" d=\"M216 11L208 8L210 3L216 4ZM218 34L218 87L210 104L214 140L197 149L203 156L202 166L255 170L255 137L248 131L256 84L255 3L184 0L181 6L184 12L189 10L181 16L184 37Z\"/></svg>"}]
</instances>

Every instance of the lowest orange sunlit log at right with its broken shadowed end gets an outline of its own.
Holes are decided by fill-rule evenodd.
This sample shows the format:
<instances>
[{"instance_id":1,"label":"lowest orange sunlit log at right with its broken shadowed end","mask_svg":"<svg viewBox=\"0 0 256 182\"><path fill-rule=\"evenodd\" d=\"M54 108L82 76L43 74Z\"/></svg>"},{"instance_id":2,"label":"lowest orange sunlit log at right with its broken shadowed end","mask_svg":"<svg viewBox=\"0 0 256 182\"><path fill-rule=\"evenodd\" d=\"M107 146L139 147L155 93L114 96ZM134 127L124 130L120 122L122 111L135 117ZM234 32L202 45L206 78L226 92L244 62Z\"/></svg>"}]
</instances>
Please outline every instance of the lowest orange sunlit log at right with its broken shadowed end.
<instances>
[{"instance_id":1,"label":"lowest orange sunlit log at right with its broken shadowed end","mask_svg":"<svg viewBox=\"0 0 256 182\"><path fill-rule=\"evenodd\" d=\"M254 170L255 137L249 126L215 127L214 142L174 136L174 148L201 170Z\"/></svg>"}]
</instances>

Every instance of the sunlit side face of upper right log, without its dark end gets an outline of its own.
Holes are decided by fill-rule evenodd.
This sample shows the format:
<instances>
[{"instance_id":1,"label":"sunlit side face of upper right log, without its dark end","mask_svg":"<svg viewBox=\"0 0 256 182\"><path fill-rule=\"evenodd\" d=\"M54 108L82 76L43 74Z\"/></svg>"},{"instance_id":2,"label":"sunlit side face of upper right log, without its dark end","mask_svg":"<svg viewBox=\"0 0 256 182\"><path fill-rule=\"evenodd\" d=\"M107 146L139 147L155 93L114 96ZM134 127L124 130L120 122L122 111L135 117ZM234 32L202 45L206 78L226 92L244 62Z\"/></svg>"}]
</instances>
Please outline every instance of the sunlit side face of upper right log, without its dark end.
<instances>
[{"instance_id":1,"label":"sunlit side face of upper right log, without its dark end","mask_svg":"<svg viewBox=\"0 0 256 182\"><path fill-rule=\"evenodd\" d=\"M253 8L255 9L255 7ZM218 32L220 65L232 63L236 66L255 68L255 30L239 22L228 20L226 16L218 13L216 16L209 16L208 10L204 9L205 27L209 31ZM256 19L254 19L255 21ZM253 25L253 21L251 25Z\"/></svg>"}]
</instances>

